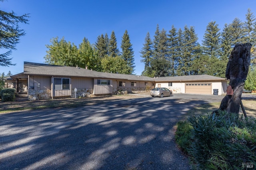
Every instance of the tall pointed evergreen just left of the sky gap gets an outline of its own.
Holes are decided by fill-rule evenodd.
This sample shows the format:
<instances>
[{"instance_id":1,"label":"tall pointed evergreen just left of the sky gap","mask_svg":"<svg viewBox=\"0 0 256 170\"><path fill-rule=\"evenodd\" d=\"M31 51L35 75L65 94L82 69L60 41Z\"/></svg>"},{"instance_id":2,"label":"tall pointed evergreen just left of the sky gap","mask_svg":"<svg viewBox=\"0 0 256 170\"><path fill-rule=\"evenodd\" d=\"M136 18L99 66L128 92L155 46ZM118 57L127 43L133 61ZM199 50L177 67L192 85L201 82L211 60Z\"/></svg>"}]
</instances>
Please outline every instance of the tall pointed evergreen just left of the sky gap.
<instances>
[{"instance_id":1,"label":"tall pointed evergreen just left of the sky gap","mask_svg":"<svg viewBox=\"0 0 256 170\"><path fill-rule=\"evenodd\" d=\"M122 42L121 42L121 57L126 61L127 65L130 68L130 71L128 74L132 74L134 72L134 51L132 49L132 44L130 43L130 37L128 35L128 31L125 30L124 35L122 37Z\"/></svg>"}]
</instances>

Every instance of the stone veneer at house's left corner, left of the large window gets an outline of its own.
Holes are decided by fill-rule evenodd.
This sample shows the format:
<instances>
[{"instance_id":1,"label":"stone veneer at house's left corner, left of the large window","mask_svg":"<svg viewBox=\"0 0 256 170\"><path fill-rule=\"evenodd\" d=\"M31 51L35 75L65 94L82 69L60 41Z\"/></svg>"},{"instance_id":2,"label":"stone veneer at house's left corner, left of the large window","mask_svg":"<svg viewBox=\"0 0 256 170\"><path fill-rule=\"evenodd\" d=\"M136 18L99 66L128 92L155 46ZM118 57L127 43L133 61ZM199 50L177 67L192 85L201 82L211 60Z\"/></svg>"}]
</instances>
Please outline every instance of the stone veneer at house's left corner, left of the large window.
<instances>
[{"instance_id":1,"label":"stone veneer at house's left corner, left of the large window","mask_svg":"<svg viewBox=\"0 0 256 170\"><path fill-rule=\"evenodd\" d=\"M49 89L28 89L28 100L48 100L51 99L51 90Z\"/></svg>"}]
</instances>

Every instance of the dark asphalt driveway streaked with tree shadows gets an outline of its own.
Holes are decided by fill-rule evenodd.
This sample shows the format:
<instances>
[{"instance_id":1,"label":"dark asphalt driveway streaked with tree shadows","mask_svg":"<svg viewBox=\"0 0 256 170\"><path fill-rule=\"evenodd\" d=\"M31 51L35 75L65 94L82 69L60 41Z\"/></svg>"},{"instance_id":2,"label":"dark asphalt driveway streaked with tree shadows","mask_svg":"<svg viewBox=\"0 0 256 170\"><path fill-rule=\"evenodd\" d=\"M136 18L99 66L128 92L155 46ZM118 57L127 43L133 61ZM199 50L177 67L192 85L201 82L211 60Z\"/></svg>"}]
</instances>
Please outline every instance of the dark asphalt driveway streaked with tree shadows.
<instances>
[{"instance_id":1,"label":"dark asphalt driveway streaked with tree shadows","mask_svg":"<svg viewBox=\"0 0 256 170\"><path fill-rule=\"evenodd\" d=\"M223 97L174 94L1 114L0 169L187 170L174 125L192 107Z\"/></svg>"}]
</instances>

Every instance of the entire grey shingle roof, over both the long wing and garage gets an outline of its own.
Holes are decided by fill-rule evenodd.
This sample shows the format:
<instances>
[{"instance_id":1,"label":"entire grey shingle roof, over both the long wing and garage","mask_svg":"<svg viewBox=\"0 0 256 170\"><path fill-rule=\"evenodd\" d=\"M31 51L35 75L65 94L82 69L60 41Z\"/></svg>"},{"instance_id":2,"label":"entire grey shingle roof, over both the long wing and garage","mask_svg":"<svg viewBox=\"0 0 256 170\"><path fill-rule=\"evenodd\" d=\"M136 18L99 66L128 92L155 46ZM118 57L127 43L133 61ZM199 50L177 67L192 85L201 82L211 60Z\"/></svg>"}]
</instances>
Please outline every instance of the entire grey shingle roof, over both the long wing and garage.
<instances>
[{"instance_id":1,"label":"entire grey shingle roof, over both the long wing and garage","mask_svg":"<svg viewBox=\"0 0 256 170\"><path fill-rule=\"evenodd\" d=\"M20 73L22 74L22 73ZM131 74L116 74L107 72L98 72L85 68L77 68L72 66L58 66L51 64L40 64L24 62L24 75L40 75L40 76L65 76L65 77L87 77L87 78L104 78L118 80L134 80L134 81L192 81L192 80L226 80L216 76L209 75L190 75L190 76L172 76L151 78L148 76L138 76Z\"/></svg>"}]
</instances>

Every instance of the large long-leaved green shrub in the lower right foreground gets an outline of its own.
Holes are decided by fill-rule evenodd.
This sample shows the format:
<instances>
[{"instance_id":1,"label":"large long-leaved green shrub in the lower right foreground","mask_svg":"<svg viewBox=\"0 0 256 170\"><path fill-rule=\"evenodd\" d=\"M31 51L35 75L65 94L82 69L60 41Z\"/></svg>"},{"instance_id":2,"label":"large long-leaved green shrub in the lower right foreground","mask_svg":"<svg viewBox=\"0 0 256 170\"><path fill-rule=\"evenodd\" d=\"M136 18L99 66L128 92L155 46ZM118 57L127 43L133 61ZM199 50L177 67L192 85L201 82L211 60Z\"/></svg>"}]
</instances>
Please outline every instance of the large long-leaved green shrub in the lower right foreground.
<instances>
[{"instance_id":1,"label":"large long-leaved green shrub in the lower right foreground","mask_svg":"<svg viewBox=\"0 0 256 170\"><path fill-rule=\"evenodd\" d=\"M188 154L198 169L242 169L256 166L256 119L220 112L190 116L191 145ZM244 166L245 165L245 166Z\"/></svg>"}]
</instances>

